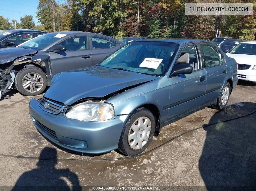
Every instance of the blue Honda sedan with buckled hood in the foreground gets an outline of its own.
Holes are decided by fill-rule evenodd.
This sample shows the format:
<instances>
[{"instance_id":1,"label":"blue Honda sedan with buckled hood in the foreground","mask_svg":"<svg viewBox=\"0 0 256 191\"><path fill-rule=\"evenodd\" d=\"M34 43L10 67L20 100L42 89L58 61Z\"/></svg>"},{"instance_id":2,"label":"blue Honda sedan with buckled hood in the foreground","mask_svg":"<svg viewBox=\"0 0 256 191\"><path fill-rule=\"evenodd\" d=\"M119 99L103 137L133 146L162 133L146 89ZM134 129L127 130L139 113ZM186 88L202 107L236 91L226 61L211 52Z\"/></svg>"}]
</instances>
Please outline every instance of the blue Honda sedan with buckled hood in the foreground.
<instances>
[{"instance_id":1,"label":"blue Honda sedan with buckled hood in the foreground","mask_svg":"<svg viewBox=\"0 0 256 191\"><path fill-rule=\"evenodd\" d=\"M55 75L29 113L63 148L133 156L162 127L209 105L226 107L237 81L235 60L210 42L144 39L96 66Z\"/></svg>"}]
</instances>

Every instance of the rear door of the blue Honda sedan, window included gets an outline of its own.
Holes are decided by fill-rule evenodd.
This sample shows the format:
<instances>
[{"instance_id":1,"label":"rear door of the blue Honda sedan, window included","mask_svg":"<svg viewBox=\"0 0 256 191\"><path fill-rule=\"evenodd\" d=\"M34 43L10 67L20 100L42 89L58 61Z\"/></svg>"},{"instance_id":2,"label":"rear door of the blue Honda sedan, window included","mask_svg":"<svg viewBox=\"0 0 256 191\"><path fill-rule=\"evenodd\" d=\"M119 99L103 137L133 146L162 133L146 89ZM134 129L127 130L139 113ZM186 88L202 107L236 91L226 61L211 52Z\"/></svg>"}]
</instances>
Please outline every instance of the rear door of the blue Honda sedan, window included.
<instances>
[{"instance_id":1,"label":"rear door of the blue Honda sedan, window included","mask_svg":"<svg viewBox=\"0 0 256 191\"><path fill-rule=\"evenodd\" d=\"M221 88L227 79L228 67L224 56L210 43L201 43L204 57L204 67L207 72L207 88L204 103L209 103L217 99Z\"/></svg>"}]
</instances>

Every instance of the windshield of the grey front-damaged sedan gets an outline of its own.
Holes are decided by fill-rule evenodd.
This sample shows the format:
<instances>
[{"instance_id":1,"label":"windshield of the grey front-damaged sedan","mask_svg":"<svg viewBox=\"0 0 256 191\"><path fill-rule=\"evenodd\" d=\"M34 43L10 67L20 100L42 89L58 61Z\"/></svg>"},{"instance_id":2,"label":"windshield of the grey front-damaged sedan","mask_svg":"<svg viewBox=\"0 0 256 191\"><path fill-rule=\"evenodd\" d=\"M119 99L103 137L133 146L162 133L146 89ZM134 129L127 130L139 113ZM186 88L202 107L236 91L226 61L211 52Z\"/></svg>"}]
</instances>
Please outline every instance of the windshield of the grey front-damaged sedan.
<instances>
[{"instance_id":1,"label":"windshield of the grey front-damaged sedan","mask_svg":"<svg viewBox=\"0 0 256 191\"><path fill-rule=\"evenodd\" d=\"M58 33L47 33L47 34L43 34L39 37L31 39L28 42L23 43L19 47L41 50L41 49L45 48L46 46L48 46L49 44L59 40L61 37L64 37L64 34L58 35Z\"/></svg>"}]
</instances>

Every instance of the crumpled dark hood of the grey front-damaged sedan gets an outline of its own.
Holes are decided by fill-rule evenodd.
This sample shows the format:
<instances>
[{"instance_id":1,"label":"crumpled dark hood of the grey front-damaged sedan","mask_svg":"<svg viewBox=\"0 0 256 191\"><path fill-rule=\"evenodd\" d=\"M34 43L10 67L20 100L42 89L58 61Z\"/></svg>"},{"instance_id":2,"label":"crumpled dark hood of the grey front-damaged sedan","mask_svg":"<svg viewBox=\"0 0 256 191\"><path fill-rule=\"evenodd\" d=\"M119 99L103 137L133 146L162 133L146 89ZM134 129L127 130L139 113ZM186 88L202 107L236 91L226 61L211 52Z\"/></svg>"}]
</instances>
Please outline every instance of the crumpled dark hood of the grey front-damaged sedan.
<instances>
[{"instance_id":1,"label":"crumpled dark hood of the grey front-damaged sedan","mask_svg":"<svg viewBox=\"0 0 256 191\"><path fill-rule=\"evenodd\" d=\"M35 54L38 50L25 49L19 47L9 47L0 49L0 64L14 61L16 58Z\"/></svg>"}]
</instances>

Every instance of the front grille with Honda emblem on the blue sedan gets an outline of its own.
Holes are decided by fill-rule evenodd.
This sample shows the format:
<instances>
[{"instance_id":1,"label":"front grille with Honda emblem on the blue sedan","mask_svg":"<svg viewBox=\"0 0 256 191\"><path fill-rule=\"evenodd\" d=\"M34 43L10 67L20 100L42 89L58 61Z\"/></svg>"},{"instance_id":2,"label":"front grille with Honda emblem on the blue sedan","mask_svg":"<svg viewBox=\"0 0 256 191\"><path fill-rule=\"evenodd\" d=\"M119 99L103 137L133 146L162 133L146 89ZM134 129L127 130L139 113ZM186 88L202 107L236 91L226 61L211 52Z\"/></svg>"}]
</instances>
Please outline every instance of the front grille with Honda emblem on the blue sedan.
<instances>
[{"instance_id":1,"label":"front grille with Honda emblem on the blue sedan","mask_svg":"<svg viewBox=\"0 0 256 191\"><path fill-rule=\"evenodd\" d=\"M62 111L63 106L53 101L42 98L39 100L39 106L46 112L58 114Z\"/></svg>"}]
</instances>

